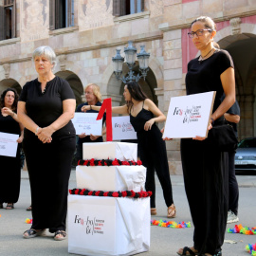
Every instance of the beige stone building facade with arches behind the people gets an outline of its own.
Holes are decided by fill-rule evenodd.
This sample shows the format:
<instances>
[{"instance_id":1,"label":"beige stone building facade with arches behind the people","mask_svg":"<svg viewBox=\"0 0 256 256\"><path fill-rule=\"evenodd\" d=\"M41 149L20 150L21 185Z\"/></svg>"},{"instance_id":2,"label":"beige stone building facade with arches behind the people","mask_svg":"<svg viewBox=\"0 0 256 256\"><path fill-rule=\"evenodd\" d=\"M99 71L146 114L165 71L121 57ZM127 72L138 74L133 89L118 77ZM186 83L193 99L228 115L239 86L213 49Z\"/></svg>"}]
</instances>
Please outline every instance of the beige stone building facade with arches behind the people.
<instances>
[{"instance_id":1,"label":"beige stone building facade with arches behind the people","mask_svg":"<svg viewBox=\"0 0 256 256\"><path fill-rule=\"evenodd\" d=\"M70 83L78 104L86 84L95 82L103 99L119 105L124 84L114 75L112 57L132 40L151 54L141 84L167 114L170 99L186 93L187 63L198 55L187 33L200 15L213 18L215 41L234 60L239 137L256 136L256 0L0 0L0 91L20 92L35 79L32 52L47 45L58 56L55 74ZM179 139L168 141L167 150L171 173L181 174Z\"/></svg>"}]
</instances>

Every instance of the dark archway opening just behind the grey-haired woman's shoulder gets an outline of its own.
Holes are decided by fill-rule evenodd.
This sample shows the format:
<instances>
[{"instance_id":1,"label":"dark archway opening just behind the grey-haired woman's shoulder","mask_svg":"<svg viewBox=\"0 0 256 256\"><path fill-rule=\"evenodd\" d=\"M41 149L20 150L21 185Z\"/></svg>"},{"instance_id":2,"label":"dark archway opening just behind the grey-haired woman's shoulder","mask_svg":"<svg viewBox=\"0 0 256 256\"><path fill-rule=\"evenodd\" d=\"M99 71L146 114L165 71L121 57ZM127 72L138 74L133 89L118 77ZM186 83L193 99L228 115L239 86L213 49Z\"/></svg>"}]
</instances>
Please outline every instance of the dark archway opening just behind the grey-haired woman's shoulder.
<instances>
[{"instance_id":1,"label":"dark archway opening just behind the grey-haired woman's shoulder","mask_svg":"<svg viewBox=\"0 0 256 256\"><path fill-rule=\"evenodd\" d=\"M84 101L84 97L83 86L80 78L75 73L68 70L59 71L55 75L66 80L70 84L75 94L77 105L81 104L82 101Z\"/></svg>"}]
</instances>

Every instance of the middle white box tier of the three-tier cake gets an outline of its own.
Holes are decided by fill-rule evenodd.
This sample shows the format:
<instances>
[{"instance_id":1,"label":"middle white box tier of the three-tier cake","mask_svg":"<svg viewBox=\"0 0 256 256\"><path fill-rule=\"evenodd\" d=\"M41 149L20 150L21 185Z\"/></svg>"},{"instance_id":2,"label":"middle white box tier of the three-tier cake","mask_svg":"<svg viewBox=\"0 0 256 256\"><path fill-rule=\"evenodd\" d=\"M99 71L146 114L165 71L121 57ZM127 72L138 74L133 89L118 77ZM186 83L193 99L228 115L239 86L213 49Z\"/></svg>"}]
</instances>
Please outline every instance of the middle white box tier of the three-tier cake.
<instances>
[{"instance_id":1,"label":"middle white box tier of the three-tier cake","mask_svg":"<svg viewBox=\"0 0 256 256\"><path fill-rule=\"evenodd\" d=\"M89 191L145 191L146 168L137 166L82 166L76 168L77 189Z\"/></svg>"}]
</instances>

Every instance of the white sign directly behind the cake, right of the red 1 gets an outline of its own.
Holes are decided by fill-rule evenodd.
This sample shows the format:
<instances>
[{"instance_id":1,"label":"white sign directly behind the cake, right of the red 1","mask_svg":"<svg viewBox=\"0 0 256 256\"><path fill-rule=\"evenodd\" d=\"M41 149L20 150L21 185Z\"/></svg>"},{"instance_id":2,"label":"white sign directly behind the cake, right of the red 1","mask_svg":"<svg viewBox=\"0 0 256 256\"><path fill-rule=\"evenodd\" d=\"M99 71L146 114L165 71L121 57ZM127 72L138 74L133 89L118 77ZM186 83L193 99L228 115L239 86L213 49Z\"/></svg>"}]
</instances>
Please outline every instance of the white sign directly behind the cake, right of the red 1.
<instances>
[{"instance_id":1,"label":"white sign directly behind the cake, right of the red 1","mask_svg":"<svg viewBox=\"0 0 256 256\"><path fill-rule=\"evenodd\" d=\"M112 118L113 140L137 139L137 132L129 116Z\"/></svg>"}]
</instances>

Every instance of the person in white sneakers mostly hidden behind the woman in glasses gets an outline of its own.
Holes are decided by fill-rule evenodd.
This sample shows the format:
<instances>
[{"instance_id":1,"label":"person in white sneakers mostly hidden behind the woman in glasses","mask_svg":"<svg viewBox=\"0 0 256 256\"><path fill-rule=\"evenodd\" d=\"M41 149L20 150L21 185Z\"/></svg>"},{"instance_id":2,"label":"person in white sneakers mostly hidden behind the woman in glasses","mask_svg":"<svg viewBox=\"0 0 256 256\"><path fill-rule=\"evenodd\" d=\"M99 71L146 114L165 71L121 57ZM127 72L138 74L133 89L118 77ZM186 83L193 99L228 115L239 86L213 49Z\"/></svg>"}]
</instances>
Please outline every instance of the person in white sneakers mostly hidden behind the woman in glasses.
<instances>
[{"instance_id":1,"label":"person in white sneakers mostly hidden behind the woman in glasses","mask_svg":"<svg viewBox=\"0 0 256 256\"><path fill-rule=\"evenodd\" d=\"M235 103L229 108L227 113L224 114L225 119L228 120L229 124L232 125L236 137L237 134L237 123L240 121L240 107L238 102ZM236 151L229 152L229 212L228 212L228 221L227 223L238 222L238 199L239 199L239 189L238 183L235 176L235 159Z\"/></svg>"}]
</instances>

